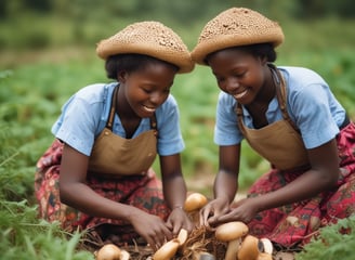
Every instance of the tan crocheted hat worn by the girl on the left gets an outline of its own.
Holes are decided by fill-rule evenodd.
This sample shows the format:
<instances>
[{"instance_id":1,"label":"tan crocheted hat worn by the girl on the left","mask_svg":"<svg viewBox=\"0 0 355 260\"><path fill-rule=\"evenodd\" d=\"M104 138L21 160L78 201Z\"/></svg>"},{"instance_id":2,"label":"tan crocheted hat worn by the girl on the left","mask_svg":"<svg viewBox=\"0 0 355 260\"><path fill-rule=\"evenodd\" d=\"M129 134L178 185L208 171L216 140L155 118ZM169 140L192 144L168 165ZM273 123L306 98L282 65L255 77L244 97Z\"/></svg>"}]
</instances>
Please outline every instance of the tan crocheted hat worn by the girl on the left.
<instances>
[{"instance_id":1,"label":"tan crocheted hat worn by the girl on the left","mask_svg":"<svg viewBox=\"0 0 355 260\"><path fill-rule=\"evenodd\" d=\"M96 53L106 60L121 53L145 54L174 64L179 73L194 69L189 51L182 39L159 22L134 23L98 42Z\"/></svg>"}]
</instances>

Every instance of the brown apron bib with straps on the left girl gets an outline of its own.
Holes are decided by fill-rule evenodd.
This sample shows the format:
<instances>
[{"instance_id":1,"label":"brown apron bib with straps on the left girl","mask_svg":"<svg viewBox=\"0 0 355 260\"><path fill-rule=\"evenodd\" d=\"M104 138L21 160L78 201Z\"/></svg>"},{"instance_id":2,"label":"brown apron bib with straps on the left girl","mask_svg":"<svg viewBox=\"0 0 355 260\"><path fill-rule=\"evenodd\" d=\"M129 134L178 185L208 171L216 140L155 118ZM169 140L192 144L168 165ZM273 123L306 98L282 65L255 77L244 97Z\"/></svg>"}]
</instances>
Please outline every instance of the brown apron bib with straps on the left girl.
<instances>
[{"instance_id":1,"label":"brown apron bib with straps on the left girl","mask_svg":"<svg viewBox=\"0 0 355 260\"><path fill-rule=\"evenodd\" d=\"M119 178L145 174L157 155L157 122L150 118L149 131L134 139L124 139L113 132L116 87L109 117L104 130L96 138L89 159L89 173Z\"/></svg>"}]
</instances>

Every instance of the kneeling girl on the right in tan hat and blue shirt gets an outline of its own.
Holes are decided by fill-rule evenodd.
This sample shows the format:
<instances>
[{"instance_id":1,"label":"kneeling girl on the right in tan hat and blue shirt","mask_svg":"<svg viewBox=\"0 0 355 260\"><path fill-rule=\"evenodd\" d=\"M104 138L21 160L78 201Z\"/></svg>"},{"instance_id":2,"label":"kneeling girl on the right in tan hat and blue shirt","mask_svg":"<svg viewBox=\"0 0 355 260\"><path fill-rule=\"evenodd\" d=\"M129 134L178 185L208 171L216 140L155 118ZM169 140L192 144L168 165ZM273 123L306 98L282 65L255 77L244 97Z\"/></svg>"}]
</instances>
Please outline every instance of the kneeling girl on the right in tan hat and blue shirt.
<instances>
[{"instance_id":1,"label":"kneeling girl on the right in tan hat and blue shirt","mask_svg":"<svg viewBox=\"0 0 355 260\"><path fill-rule=\"evenodd\" d=\"M220 166L201 223L244 221L251 234L293 247L355 211L355 125L319 75L273 65L282 40L277 23L233 8L206 25L192 56L211 67L222 90ZM233 203L242 139L272 168Z\"/></svg>"}]
</instances>

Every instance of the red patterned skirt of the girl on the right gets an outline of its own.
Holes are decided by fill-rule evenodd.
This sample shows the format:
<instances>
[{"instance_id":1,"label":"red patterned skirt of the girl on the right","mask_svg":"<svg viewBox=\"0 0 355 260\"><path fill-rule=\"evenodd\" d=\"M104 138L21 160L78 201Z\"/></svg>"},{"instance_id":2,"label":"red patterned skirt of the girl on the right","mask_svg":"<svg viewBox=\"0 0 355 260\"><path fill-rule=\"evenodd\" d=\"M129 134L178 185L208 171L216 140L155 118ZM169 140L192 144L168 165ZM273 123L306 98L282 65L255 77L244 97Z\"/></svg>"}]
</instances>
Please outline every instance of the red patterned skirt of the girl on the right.
<instances>
[{"instance_id":1,"label":"red patterned skirt of the girl on the right","mask_svg":"<svg viewBox=\"0 0 355 260\"><path fill-rule=\"evenodd\" d=\"M318 196L258 213L249 223L251 234L267 237L282 248L302 247L321 226L336 223L355 212L355 123L337 138L341 176L337 187ZM303 172L272 169L250 187L248 196L276 191Z\"/></svg>"}]
</instances>

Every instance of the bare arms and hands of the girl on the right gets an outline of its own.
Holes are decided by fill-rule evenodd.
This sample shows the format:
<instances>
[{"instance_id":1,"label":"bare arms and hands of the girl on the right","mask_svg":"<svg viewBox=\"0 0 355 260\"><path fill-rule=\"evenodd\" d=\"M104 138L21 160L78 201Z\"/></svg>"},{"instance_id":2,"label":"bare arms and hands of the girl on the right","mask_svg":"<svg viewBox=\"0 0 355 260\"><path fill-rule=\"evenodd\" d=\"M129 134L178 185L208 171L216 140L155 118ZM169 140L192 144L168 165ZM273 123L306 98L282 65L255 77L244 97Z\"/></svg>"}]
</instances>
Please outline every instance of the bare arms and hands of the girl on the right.
<instances>
[{"instance_id":1,"label":"bare arms and hands of the girl on the right","mask_svg":"<svg viewBox=\"0 0 355 260\"><path fill-rule=\"evenodd\" d=\"M231 150L233 150L233 146L221 147L221 154L226 154ZM293 182L275 192L253 198L245 198L236 203L233 208L229 208L229 203L234 199L233 193L237 190L236 186L231 185L233 176L236 180L238 172L235 171L237 170L235 158L239 158L234 157L232 159L233 157L233 155L226 158L220 157L220 173L214 185L216 191L215 199L202 209L202 224L216 226L229 221L248 223L262 210L312 198L318 193L331 188L339 178L338 148L336 140L331 140L319 147L308 150L311 169ZM232 171L228 171L228 169L232 169ZM229 184L226 185L228 182ZM212 217L208 218L211 212L213 212Z\"/></svg>"}]
</instances>

